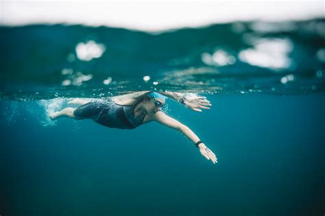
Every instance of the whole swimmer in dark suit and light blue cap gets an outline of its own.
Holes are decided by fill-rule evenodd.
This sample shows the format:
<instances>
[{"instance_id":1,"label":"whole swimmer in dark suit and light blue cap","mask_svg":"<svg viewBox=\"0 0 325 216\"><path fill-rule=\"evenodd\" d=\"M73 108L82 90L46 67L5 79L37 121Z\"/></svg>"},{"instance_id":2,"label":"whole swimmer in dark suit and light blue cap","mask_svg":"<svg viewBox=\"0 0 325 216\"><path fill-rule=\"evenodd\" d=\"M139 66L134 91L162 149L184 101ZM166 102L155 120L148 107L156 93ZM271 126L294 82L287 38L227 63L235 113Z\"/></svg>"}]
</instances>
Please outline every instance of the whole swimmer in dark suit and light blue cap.
<instances>
[{"instance_id":1,"label":"whole swimmer in dark suit and light blue cap","mask_svg":"<svg viewBox=\"0 0 325 216\"><path fill-rule=\"evenodd\" d=\"M200 141L186 125L180 123L162 112L165 98L175 99L184 106L197 112L210 109L210 101L206 97L184 97L182 93L140 91L109 97L108 99L73 99L69 104L80 104L77 108L64 108L49 115L51 119L71 117L73 119L93 119L93 121L109 128L133 129L144 123L157 121L169 128L182 132L200 149L200 153L214 164L217 163L215 154Z\"/></svg>"}]
</instances>

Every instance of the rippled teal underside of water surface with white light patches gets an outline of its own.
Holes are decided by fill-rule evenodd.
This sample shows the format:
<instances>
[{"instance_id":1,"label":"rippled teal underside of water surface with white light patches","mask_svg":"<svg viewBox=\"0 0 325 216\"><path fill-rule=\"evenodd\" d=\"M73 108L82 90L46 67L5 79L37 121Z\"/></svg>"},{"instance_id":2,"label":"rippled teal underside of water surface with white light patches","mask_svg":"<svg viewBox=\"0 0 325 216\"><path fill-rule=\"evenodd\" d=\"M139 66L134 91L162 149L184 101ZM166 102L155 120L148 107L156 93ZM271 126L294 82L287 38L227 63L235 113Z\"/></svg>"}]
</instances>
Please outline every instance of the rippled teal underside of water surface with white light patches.
<instances>
[{"instance_id":1,"label":"rippled teal underside of water surface with white light patches","mask_svg":"<svg viewBox=\"0 0 325 216\"><path fill-rule=\"evenodd\" d=\"M62 24L3 26L0 97L98 98L140 90L322 92L324 29L324 19L156 33Z\"/></svg>"}]
</instances>

